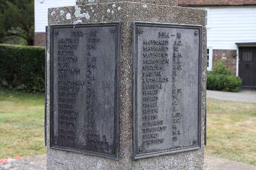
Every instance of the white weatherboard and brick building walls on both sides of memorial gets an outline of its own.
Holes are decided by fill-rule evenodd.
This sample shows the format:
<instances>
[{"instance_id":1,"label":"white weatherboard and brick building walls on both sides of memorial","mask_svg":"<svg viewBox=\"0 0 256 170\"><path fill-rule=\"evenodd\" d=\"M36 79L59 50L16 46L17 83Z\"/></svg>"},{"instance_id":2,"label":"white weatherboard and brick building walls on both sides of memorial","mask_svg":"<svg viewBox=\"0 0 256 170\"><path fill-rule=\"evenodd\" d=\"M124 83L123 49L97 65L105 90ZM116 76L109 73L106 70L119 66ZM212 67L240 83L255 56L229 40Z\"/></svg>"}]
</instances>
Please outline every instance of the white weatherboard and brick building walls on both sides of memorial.
<instances>
[{"instance_id":1,"label":"white weatherboard and brick building walls on both sides of memorial","mask_svg":"<svg viewBox=\"0 0 256 170\"><path fill-rule=\"evenodd\" d=\"M35 45L45 45L45 27L47 26L47 9L61 6L74 6L75 0L35 0ZM226 64L233 72L238 72L237 57L233 57L233 51L237 50L236 43L256 42L256 5L241 6L244 4L256 4L256 1L211 1L211 0L194 0L193 2L184 1L188 6L196 4L209 3L226 3L224 5L240 6L206 6L195 7L207 10L207 47L212 50L211 65L217 59L226 58ZM180 0L179 5L184 5ZM193 4L194 3L194 4ZM192 4L192 5L191 5ZM216 5L216 4L212 4Z\"/></svg>"}]
</instances>

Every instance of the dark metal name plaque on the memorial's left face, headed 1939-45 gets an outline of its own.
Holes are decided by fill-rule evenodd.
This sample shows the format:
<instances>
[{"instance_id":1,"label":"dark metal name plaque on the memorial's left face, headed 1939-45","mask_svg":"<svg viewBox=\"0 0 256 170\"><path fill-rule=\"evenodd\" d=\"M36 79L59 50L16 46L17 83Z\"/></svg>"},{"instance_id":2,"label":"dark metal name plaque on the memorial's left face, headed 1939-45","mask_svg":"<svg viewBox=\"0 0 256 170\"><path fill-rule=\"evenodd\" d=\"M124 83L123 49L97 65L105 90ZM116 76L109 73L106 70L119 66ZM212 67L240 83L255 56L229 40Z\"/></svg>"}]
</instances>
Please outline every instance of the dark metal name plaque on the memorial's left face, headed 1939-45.
<instances>
[{"instance_id":1,"label":"dark metal name plaque on the memorial's left face, headed 1939-45","mask_svg":"<svg viewBox=\"0 0 256 170\"><path fill-rule=\"evenodd\" d=\"M119 29L51 26L51 148L118 157Z\"/></svg>"}]
</instances>

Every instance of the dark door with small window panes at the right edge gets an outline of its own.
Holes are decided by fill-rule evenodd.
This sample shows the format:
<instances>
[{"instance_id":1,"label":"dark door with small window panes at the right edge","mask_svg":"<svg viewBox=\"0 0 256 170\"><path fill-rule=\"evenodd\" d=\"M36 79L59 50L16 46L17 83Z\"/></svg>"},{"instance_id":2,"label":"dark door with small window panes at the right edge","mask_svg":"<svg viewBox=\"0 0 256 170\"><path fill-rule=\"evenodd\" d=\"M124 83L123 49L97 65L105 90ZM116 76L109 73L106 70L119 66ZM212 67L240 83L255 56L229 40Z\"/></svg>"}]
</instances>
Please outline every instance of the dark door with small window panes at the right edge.
<instances>
[{"instance_id":1,"label":"dark door with small window panes at the right edge","mask_svg":"<svg viewBox=\"0 0 256 170\"><path fill-rule=\"evenodd\" d=\"M239 47L239 77L243 88L256 87L256 47Z\"/></svg>"}]
</instances>

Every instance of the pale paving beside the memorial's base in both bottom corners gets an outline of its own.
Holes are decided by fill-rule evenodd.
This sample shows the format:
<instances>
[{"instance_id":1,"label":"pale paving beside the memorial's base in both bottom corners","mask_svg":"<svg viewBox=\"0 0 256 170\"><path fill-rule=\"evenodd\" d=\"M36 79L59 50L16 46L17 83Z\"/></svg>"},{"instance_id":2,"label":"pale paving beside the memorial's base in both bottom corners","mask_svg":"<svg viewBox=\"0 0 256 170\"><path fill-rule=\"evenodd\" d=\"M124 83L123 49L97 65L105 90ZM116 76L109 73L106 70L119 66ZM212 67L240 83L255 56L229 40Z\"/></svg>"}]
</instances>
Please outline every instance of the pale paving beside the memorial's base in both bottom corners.
<instances>
[{"instance_id":1,"label":"pale paving beside the memorial's base in both bottom corners","mask_svg":"<svg viewBox=\"0 0 256 170\"><path fill-rule=\"evenodd\" d=\"M30 156L19 160L0 163L0 170L45 170L46 155ZM77 169L79 170L79 169ZM184 169L185 170L185 169ZM256 166L205 156L205 170L256 170Z\"/></svg>"}]
</instances>

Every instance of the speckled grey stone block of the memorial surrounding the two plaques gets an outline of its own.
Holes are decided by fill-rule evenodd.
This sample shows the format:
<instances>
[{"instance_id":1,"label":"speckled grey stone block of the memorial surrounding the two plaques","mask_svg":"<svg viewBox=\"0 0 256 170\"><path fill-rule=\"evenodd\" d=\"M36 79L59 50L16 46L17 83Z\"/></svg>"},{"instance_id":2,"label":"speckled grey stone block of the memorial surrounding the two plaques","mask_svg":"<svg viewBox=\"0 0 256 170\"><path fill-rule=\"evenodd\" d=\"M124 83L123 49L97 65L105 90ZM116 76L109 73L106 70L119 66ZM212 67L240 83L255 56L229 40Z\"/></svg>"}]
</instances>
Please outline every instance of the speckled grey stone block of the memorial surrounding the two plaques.
<instances>
[{"instance_id":1,"label":"speckled grey stone block of the memorial surrounding the two plaques","mask_svg":"<svg viewBox=\"0 0 256 170\"><path fill-rule=\"evenodd\" d=\"M111 160L87 156L49 148L49 104L47 109L47 169L203 169L204 167L204 111L205 111L205 67L202 68L202 122L201 149L172 155L132 160L132 70L131 43L132 22L162 22L187 25L205 25L205 11L201 9L161 6L132 2L95 4L49 9L49 26L88 22L122 21L121 64L120 64L120 158ZM49 34L48 34L49 35ZM49 38L48 38L49 39ZM48 41L48 45L50 42ZM205 28L203 28L205 46ZM49 49L49 48L48 48ZM202 65L205 66L205 48L202 47ZM48 91L49 100L49 60L48 50Z\"/></svg>"}]
</instances>

